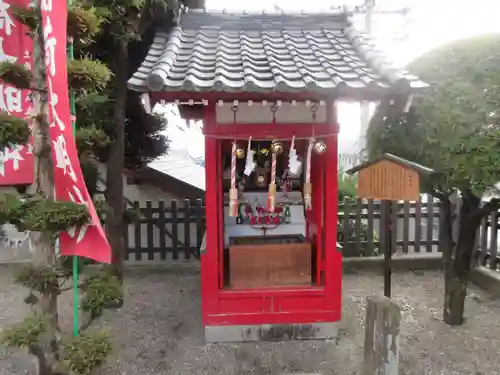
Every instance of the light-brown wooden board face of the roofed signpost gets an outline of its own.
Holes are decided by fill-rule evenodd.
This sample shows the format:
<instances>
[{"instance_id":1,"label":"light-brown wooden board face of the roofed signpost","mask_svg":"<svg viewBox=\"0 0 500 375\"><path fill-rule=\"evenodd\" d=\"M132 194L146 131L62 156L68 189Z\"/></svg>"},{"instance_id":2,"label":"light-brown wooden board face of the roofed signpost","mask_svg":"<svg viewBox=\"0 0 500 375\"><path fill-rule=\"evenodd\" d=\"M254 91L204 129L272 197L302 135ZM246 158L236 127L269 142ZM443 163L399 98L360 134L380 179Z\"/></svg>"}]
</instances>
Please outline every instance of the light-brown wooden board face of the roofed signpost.
<instances>
[{"instance_id":1,"label":"light-brown wooden board face of the roofed signpost","mask_svg":"<svg viewBox=\"0 0 500 375\"><path fill-rule=\"evenodd\" d=\"M420 200L417 171L389 160L381 160L358 173L358 197L375 200Z\"/></svg>"}]
</instances>

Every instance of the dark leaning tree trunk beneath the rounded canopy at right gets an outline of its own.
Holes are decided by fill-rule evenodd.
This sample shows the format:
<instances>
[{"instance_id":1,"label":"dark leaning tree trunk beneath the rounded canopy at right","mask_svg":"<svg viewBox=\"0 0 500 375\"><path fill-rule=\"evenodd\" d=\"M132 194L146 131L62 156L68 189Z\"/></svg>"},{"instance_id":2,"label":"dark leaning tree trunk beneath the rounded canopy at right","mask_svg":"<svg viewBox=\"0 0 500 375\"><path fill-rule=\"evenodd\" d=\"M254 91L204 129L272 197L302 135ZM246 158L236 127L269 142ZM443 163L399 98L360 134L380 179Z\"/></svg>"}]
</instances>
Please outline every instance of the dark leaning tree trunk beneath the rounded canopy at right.
<instances>
[{"instance_id":1,"label":"dark leaning tree trunk beneath the rounded canopy at right","mask_svg":"<svg viewBox=\"0 0 500 375\"><path fill-rule=\"evenodd\" d=\"M453 246L453 254L445 268L445 298L443 320L449 325L464 322L467 282L471 271L476 232L480 217L471 215L479 208L480 200L469 196L462 198L458 219L458 239Z\"/></svg>"}]
</instances>

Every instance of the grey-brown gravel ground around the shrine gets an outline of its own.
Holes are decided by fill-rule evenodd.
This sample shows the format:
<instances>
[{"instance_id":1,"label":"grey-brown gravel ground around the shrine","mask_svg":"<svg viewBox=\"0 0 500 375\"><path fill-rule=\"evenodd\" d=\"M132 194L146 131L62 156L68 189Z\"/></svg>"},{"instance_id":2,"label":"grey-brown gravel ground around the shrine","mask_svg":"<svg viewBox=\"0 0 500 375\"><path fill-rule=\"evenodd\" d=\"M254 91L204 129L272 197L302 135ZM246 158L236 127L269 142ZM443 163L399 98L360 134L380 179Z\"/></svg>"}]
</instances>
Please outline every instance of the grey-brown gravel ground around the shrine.
<instances>
[{"instance_id":1,"label":"grey-brown gravel ground around the shrine","mask_svg":"<svg viewBox=\"0 0 500 375\"><path fill-rule=\"evenodd\" d=\"M7 271L6 271L7 270ZM0 268L0 329L22 317L23 289ZM467 321L451 328L441 322L443 285L436 272L396 274L394 298L403 309L401 371L407 375L494 375L500 373L500 301L475 287L467 299ZM344 278L344 314L338 341L205 344L200 314L199 274L182 270L129 271L124 307L101 326L116 334L116 351L104 375L278 375L320 372L359 374L363 350L365 297L382 292L382 278ZM70 329L71 296L61 300ZM22 374L26 361L7 353L0 374ZM23 364L24 363L24 364Z\"/></svg>"}]
</instances>

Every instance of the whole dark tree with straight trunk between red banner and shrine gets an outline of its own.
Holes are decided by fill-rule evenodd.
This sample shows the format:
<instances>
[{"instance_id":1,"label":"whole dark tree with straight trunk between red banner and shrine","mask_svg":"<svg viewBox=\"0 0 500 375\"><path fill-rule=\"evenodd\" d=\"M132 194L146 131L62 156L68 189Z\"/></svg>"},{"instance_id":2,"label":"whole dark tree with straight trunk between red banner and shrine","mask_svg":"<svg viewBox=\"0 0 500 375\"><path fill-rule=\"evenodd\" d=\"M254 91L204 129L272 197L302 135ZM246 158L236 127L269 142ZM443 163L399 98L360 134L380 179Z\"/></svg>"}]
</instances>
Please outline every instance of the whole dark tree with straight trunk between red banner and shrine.
<instances>
[{"instance_id":1,"label":"whole dark tree with straight trunk between red banner and shrine","mask_svg":"<svg viewBox=\"0 0 500 375\"><path fill-rule=\"evenodd\" d=\"M94 6L110 9L107 23L95 38L95 43L84 48L82 53L105 62L112 72L112 80L103 96L93 99L106 107L100 129L110 140L109 147L100 153L107 162L106 168L106 234L113 252L112 271L119 279L123 277L124 194L122 175L124 168L140 168L168 148L167 139L161 135L166 127L164 117L149 114L141 104L138 93L129 92L127 80L145 58L154 37L155 26L173 25L175 14L182 4L175 0L120 1L95 0ZM87 107L88 108L88 107ZM79 106L85 111L84 106ZM90 119L92 114L80 117ZM81 125L87 128L89 123Z\"/></svg>"}]
</instances>

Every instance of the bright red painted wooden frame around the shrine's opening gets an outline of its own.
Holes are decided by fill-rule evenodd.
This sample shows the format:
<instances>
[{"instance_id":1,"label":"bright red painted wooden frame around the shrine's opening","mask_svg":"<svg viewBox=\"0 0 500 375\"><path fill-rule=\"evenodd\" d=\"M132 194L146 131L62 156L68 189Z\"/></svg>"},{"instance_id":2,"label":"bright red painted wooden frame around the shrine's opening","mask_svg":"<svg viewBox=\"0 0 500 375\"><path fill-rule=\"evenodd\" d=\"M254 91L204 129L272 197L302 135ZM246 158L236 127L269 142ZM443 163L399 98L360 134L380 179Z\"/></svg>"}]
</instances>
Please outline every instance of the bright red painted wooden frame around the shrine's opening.
<instances>
[{"instance_id":1,"label":"bright red painted wooden frame around the shrine's opening","mask_svg":"<svg viewBox=\"0 0 500 375\"><path fill-rule=\"evenodd\" d=\"M266 98L268 99L268 98ZM201 258L204 325L257 325L336 322L342 298L342 255L337 250L337 134L334 103L321 124L218 125L215 101L204 110L206 252ZM313 210L307 235L317 244L317 283L308 287L231 290L223 288L222 140L324 137L327 151L315 155L311 179Z\"/></svg>"}]
</instances>

